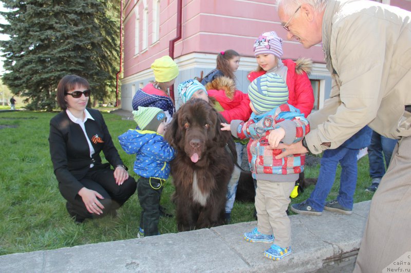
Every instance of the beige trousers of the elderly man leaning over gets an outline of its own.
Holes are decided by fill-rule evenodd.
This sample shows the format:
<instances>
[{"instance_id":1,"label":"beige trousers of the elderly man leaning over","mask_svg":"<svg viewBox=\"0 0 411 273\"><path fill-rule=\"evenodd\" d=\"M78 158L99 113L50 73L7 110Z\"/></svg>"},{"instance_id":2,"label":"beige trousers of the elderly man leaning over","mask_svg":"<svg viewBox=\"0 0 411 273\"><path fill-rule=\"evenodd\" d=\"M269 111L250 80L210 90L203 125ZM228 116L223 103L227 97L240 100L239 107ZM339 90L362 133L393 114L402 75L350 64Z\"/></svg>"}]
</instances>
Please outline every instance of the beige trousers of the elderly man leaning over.
<instances>
[{"instance_id":1,"label":"beige trousers of the elderly man leaning over","mask_svg":"<svg viewBox=\"0 0 411 273\"><path fill-rule=\"evenodd\" d=\"M381 272L411 251L411 137L400 139L371 200L354 272ZM398 266L397 266L398 267Z\"/></svg>"}]
</instances>

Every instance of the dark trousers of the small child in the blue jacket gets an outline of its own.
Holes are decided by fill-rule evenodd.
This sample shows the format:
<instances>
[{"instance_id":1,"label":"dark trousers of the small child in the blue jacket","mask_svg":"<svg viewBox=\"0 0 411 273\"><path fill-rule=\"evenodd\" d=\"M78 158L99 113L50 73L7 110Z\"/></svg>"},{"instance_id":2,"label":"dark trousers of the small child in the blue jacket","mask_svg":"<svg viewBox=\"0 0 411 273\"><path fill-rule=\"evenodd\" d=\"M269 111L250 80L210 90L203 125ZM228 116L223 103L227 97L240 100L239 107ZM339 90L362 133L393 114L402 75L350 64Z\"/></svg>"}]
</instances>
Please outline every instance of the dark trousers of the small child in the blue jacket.
<instances>
[{"instance_id":1,"label":"dark trousers of the small child in the blue jacket","mask_svg":"<svg viewBox=\"0 0 411 273\"><path fill-rule=\"evenodd\" d=\"M144 236L158 235L158 221L160 219L160 196L163 191L162 183L156 178L140 177L137 181L137 193L142 208L140 227L144 229Z\"/></svg>"}]
</instances>

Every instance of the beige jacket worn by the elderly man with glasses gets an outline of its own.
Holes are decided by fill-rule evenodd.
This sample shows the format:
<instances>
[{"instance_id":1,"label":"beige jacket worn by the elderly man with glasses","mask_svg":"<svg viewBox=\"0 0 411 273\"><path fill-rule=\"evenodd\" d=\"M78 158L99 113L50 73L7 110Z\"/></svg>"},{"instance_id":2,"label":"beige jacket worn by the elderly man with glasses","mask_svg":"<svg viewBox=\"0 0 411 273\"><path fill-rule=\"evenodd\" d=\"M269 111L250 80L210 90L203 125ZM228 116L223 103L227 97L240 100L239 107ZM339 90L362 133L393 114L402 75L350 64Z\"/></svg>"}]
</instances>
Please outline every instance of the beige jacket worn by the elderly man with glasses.
<instances>
[{"instance_id":1,"label":"beige jacket worn by the elderly man with glasses","mask_svg":"<svg viewBox=\"0 0 411 273\"><path fill-rule=\"evenodd\" d=\"M329 0L323 50L332 89L308 116L309 150L331 149L368 124L389 138L411 135L411 12L372 1Z\"/></svg>"}]
</instances>

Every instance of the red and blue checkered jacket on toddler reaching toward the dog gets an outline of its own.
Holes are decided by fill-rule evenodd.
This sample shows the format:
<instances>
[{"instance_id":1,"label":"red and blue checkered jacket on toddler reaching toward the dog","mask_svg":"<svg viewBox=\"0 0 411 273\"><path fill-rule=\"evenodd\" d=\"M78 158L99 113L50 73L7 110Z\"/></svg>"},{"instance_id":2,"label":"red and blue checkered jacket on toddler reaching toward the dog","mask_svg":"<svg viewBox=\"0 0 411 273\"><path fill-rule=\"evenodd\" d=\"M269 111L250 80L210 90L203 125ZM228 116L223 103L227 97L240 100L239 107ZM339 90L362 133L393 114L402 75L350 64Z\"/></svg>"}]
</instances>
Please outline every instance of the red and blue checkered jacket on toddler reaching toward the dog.
<instances>
[{"instance_id":1,"label":"red and blue checkered jacket on toddler reaching toward the dog","mask_svg":"<svg viewBox=\"0 0 411 273\"><path fill-rule=\"evenodd\" d=\"M279 127L286 132L282 140L286 144L301 141L310 131L304 114L287 103L258 116L253 113L247 122L231 121L231 133L234 137L250 138L247 145L248 163L253 178L257 180L291 182L296 181L298 174L304 171L305 154L275 159L282 150L270 149L267 137L270 130Z\"/></svg>"}]
</instances>

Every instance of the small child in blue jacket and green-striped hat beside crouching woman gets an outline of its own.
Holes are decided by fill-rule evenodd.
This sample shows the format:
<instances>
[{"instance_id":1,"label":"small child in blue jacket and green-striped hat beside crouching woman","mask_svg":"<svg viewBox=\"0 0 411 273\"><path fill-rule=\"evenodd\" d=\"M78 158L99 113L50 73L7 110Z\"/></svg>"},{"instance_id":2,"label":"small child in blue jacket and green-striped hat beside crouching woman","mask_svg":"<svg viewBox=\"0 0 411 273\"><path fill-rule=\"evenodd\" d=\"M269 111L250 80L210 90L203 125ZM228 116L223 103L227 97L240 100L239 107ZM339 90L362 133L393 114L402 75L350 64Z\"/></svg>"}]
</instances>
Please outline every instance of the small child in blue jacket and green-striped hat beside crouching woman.
<instances>
[{"instance_id":1,"label":"small child in blue jacket and green-striped hat beside crouching woman","mask_svg":"<svg viewBox=\"0 0 411 273\"><path fill-rule=\"evenodd\" d=\"M163 110L140 106L132 113L140 130L130 129L119 140L127 154L136 154L133 170L140 176L137 191L142 207L137 237L153 236L159 234L160 196L175 150L163 137L167 119Z\"/></svg>"}]
</instances>

